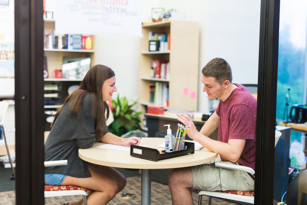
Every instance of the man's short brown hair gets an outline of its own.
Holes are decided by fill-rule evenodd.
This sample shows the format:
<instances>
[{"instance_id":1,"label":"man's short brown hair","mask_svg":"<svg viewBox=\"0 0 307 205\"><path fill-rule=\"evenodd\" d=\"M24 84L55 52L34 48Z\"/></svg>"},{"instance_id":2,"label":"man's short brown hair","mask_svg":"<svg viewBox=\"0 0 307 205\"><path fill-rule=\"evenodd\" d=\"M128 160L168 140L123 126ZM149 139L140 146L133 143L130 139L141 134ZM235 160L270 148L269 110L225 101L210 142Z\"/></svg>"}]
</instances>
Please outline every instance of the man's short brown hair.
<instances>
[{"instance_id":1,"label":"man's short brown hair","mask_svg":"<svg viewBox=\"0 0 307 205\"><path fill-rule=\"evenodd\" d=\"M219 84L225 80L232 83L231 67L223 58L213 58L203 67L202 73L206 77L215 77Z\"/></svg>"}]
</instances>

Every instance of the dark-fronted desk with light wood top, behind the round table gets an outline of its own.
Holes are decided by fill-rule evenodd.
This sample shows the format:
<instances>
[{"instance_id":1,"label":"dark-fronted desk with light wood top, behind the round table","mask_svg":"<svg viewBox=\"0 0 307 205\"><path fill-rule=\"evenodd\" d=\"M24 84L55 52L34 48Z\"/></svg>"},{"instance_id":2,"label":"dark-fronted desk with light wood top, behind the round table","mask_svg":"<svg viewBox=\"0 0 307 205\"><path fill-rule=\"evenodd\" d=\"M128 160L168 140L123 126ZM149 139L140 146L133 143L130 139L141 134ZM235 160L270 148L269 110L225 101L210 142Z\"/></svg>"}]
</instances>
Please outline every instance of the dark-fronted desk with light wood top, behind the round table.
<instances>
[{"instance_id":1,"label":"dark-fronted desk with light wood top, behind the round table","mask_svg":"<svg viewBox=\"0 0 307 205\"><path fill-rule=\"evenodd\" d=\"M170 124L170 128L172 129L172 134L175 134L177 131L177 124L180 123L177 119L175 112L165 111L164 114L155 115L145 113L145 117L147 118L147 126L148 126L148 136L149 137L164 137L166 135L167 127L164 127L165 124ZM200 131L203 127L203 124L206 121L202 120L193 120L196 129ZM218 139L218 129L216 129L211 135L210 138L213 140ZM187 135L187 140L191 140L191 138Z\"/></svg>"}]
</instances>

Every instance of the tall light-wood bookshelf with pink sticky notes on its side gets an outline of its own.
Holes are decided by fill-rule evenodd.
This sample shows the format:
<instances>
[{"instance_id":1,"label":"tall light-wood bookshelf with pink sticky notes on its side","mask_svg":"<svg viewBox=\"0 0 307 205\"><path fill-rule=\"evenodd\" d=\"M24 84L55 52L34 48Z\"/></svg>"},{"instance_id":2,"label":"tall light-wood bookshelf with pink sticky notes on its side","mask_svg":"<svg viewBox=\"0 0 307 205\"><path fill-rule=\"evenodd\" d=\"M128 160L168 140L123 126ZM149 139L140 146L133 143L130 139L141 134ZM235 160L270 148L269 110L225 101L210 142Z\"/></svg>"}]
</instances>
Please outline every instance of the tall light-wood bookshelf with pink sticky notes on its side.
<instances>
[{"instance_id":1,"label":"tall light-wood bookshelf with pink sticky notes on its side","mask_svg":"<svg viewBox=\"0 0 307 205\"><path fill-rule=\"evenodd\" d=\"M170 51L149 52L149 32L170 34ZM145 112L149 103L149 85L153 82L169 83L169 107L172 110L197 110L199 82L199 23L189 21L166 21L144 24L140 42L139 105ZM150 77L151 61L170 62L170 80ZM189 94L184 94L189 88ZM191 97L190 92L196 96Z\"/></svg>"}]
</instances>

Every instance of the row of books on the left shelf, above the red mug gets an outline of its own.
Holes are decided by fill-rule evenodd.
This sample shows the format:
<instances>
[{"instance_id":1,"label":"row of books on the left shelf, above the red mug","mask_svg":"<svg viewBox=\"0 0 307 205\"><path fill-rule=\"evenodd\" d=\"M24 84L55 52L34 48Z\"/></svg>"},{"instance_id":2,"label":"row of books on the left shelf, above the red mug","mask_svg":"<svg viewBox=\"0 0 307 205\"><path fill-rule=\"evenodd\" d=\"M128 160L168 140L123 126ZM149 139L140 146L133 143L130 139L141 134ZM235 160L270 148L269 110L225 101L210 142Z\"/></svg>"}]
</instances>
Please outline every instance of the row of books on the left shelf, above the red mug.
<instances>
[{"instance_id":1,"label":"row of books on the left shelf, above the red mug","mask_svg":"<svg viewBox=\"0 0 307 205\"><path fill-rule=\"evenodd\" d=\"M48 49L92 49L91 36L74 34L56 36L54 33L44 34L44 45Z\"/></svg>"}]
</instances>

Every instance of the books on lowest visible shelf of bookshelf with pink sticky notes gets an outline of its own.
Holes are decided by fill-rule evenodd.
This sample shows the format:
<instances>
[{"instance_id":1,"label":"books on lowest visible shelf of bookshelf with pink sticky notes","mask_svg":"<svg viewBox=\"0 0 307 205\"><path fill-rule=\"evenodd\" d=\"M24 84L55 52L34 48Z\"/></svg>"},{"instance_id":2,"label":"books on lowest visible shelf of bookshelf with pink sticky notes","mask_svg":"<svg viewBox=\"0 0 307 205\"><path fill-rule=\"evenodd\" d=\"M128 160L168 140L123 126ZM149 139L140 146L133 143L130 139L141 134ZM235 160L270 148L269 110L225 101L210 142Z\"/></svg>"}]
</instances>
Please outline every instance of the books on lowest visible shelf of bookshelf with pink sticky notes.
<instances>
[{"instance_id":1,"label":"books on lowest visible shelf of bookshelf with pink sticky notes","mask_svg":"<svg viewBox=\"0 0 307 205\"><path fill-rule=\"evenodd\" d=\"M169 85L162 82L149 84L149 102L154 103L155 105L168 107Z\"/></svg>"}]
</instances>

